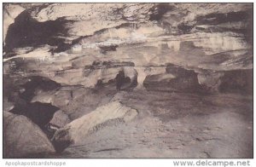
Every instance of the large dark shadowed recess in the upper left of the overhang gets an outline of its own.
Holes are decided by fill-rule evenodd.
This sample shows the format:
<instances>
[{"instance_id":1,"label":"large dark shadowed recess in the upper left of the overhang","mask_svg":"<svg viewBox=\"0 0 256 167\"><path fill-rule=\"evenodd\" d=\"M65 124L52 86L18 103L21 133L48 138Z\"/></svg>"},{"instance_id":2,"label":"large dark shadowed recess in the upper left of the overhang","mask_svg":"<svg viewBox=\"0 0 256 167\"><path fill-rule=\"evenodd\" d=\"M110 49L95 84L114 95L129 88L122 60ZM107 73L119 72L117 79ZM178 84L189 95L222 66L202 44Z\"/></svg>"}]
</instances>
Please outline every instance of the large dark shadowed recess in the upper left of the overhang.
<instances>
[{"instance_id":1,"label":"large dark shadowed recess in the upper left of the overhang","mask_svg":"<svg viewBox=\"0 0 256 167\"><path fill-rule=\"evenodd\" d=\"M29 11L25 10L15 18L15 23L9 26L4 50L10 52L17 47L38 47L43 44L61 47L64 39L56 36L67 35L65 24L68 22L70 21L63 18L38 22L31 18Z\"/></svg>"}]
</instances>

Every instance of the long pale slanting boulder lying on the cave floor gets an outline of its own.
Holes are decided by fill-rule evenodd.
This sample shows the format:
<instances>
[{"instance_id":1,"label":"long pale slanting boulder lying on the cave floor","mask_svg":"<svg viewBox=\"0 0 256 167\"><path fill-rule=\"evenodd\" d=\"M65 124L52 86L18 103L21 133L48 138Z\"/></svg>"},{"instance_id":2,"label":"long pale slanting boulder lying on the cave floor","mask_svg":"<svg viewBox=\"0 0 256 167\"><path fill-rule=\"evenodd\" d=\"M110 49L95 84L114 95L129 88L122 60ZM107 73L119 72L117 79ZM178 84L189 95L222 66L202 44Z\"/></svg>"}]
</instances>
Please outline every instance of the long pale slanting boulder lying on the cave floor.
<instances>
[{"instance_id":1,"label":"long pale slanting boulder lying on the cave floor","mask_svg":"<svg viewBox=\"0 0 256 167\"><path fill-rule=\"evenodd\" d=\"M137 110L125 107L119 101L113 101L83 117L73 120L57 130L52 139L57 151L62 151L68 144L79 145L89 133L100 130L106 124L125 123L137 116Z\"/></svg>"}]
</instances>

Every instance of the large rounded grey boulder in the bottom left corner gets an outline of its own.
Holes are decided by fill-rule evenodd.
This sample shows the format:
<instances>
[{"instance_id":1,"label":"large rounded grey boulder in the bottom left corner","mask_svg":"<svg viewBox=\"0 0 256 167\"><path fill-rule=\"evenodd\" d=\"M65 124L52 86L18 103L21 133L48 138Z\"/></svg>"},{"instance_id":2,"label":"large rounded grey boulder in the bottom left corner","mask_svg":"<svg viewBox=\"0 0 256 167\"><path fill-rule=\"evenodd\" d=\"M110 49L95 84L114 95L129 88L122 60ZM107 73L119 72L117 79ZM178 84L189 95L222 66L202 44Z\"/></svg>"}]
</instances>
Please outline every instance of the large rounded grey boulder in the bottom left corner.
<instances>
[{"instance_id":1,"label":"large rounded grey boulder in the bottom left corner","mask_svg":"<svg viewBox=\"0 0 256 167\"><path fill-rule=\"evenodd\" d=\"M24 116L3 112L3 157L40 157L55 153L42 130Z\"/></svg>"}]
</instances>

